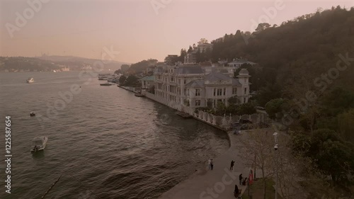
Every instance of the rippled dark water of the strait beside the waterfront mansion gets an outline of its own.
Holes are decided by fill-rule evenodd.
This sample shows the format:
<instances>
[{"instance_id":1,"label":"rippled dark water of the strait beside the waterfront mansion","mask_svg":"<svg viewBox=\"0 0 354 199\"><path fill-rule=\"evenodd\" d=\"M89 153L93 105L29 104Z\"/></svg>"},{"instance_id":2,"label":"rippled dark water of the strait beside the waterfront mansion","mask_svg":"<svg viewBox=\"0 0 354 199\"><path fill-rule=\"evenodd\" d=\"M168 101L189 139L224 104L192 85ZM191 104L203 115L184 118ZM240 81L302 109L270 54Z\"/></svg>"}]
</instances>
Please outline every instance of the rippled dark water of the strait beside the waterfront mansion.
<instances>
[{"instance_id":1,"label":"rippled dark water of the strait beside the waterfront mansion","mask_svg":"<svg viewBox=\"0 0 354 199\"><path fill-rule=\"evenodd\" d=\"M35 83L26 84L30 76ZM229 147L224 132L79 72L1 73L0 82L0 125L11 116L13 155L11 194L0 164L0 198L40 198L59 176L45 198L158 198ZM80 93L71 92L75 84ZM45 151L31 154L42 135Z\"/></svg>"}]
</instances>

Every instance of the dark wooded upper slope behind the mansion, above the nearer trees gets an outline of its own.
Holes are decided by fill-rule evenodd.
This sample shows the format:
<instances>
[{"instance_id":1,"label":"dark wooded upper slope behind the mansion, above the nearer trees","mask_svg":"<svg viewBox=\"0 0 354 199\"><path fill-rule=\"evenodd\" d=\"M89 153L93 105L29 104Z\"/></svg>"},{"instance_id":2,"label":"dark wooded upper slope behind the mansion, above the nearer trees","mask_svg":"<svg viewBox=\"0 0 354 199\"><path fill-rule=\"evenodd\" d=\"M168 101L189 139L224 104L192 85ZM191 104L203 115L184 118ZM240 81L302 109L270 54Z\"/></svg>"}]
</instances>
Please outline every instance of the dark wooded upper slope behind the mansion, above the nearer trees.
<instances>
[{"instance_id":1,"label":"dark wooded upper slope behind the mansion, above the nearer trees","mask_svg":"<svg viewBox=\"0 0 354 199\"><path fill-rule=\"evenodd\" d=\"M253 33L237 30L224 35L212 41L212 52L206 59L217 62L243 57L256 62L263 68L258 76L261 84L276 85L275 90L282 91L272 97L293 98L297 93L318 89L314 79L336 67L341 60L338 55L354 57L353 35L354 7L347 10L337 6L279 26L262 23ZM333 84L354 91L353 76L353 67L348 67Z\"/></svg>"}]
</instances>

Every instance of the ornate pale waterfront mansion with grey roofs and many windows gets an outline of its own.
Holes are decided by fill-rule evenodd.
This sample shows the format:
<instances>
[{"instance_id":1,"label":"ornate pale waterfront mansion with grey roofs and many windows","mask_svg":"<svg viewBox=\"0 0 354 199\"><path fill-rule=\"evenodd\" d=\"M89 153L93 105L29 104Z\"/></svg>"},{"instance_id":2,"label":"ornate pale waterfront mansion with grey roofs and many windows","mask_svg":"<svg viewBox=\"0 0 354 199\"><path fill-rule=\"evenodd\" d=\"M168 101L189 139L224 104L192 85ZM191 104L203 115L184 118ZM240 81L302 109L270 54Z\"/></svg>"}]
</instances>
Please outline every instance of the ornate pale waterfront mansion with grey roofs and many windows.
<instances>
[{"instance_id":1,"label":"ornate pale waterfront mansion with grey roofs and many windows","mask_svg":"<svg viewBox=\"0 0 354 199\"><path fill-rule=\"evenodd\" d=\"M232 96L237 96L240 103L247 103L250 98L246 69L241 69L234 79L213 70L206 72L199 65L164 64L156 67L154 76L154 95L178 106L215 107L217 101L227 105Z\"/></svg>"}]
</instances>

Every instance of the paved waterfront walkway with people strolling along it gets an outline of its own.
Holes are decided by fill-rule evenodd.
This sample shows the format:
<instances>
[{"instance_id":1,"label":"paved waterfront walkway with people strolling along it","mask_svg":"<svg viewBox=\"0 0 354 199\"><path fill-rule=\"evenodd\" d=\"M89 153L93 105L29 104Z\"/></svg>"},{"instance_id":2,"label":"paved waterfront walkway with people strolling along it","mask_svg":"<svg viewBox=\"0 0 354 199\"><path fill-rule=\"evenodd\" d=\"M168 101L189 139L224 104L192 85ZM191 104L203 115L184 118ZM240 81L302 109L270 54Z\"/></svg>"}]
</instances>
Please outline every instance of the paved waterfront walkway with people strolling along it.
<instances>
[{"instance_id":1,"label":"paved waterfront walkway with people strolling along it","mask_svg":"<svg viewBox=\"0 0 354 199\"><path fill-rule=\"evenodd\" d=\"M231 147L219 157L212 158L214 170L207 168L207 160L204 169L199 169L193 176L187 180L178 183L166 193L162 194L159 199L213 199L213 198L234 198L235 184L242 189L242 193L246 190L246 186L239 185L239 174L248 177L249 168L241 163L238 156L241 147L239 140L245 137L243 131L241 135L233 135L229 132ZM236 161L234 170L230 171L231 161Z\"/></svg>"}]
</instances>

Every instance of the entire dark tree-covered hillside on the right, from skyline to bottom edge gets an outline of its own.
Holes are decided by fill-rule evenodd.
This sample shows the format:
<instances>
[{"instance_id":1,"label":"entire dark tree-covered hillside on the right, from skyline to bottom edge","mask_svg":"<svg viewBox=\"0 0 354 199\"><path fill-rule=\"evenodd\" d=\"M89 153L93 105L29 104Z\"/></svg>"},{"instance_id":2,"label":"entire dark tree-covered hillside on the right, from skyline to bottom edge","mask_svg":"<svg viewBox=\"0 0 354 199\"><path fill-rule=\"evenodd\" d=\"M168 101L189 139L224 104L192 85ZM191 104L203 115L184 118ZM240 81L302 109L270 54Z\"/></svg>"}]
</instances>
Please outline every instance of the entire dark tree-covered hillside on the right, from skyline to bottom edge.
<instances>
[{"instance_id":1,"label":"entire dark tree-covered hillside on the right, from skyline to bottom edge","mask_svg":"<svg viewBox=\"0 0 354 199\"><path fill-rule=\"evenodd\" d=\"M354 195L354 7L261 23L212 44L200 62L242 57L258 64L242 66L257 92L251 103L265 107L292 135L293 155L318 171L319 181L307 185L310 198Z\"/></svg>"}]
</instances>

